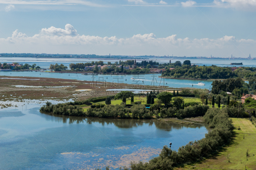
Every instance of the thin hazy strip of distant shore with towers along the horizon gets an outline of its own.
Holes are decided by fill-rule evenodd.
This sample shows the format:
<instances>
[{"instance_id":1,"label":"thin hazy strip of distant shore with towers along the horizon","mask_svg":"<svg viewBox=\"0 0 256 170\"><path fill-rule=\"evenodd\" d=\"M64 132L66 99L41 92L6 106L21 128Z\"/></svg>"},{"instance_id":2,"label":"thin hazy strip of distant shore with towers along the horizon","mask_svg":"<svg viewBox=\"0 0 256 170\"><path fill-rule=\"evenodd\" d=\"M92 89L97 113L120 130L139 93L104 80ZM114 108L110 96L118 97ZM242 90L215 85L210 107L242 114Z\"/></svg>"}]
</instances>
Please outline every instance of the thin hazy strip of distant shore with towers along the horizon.
<instances>
[{"instance_id":1,"label":"thin hazy strip of distant shore with towers along the horizon","mask_svg":"<svg viewBox=\"0 0 256 170\"><path fill-rule=\"evenodd\" d=\"M110 59L150 59L150 58L170 58L170 59L247 59L247 60L256 60L255 58L251 57L251 54L249 54L249 57L247 58L242 58L242 57L235 57L231 55L231 57L178 57L178 56L169 56L169 55L164 55L164 56L121 56L121 55L95 55L95 54L46 54L46 53L41 53L41 54L33 54L33 53L1 53L0 57L38 57L38 58L110 58Z\"/></svg>"}]
</instances>

